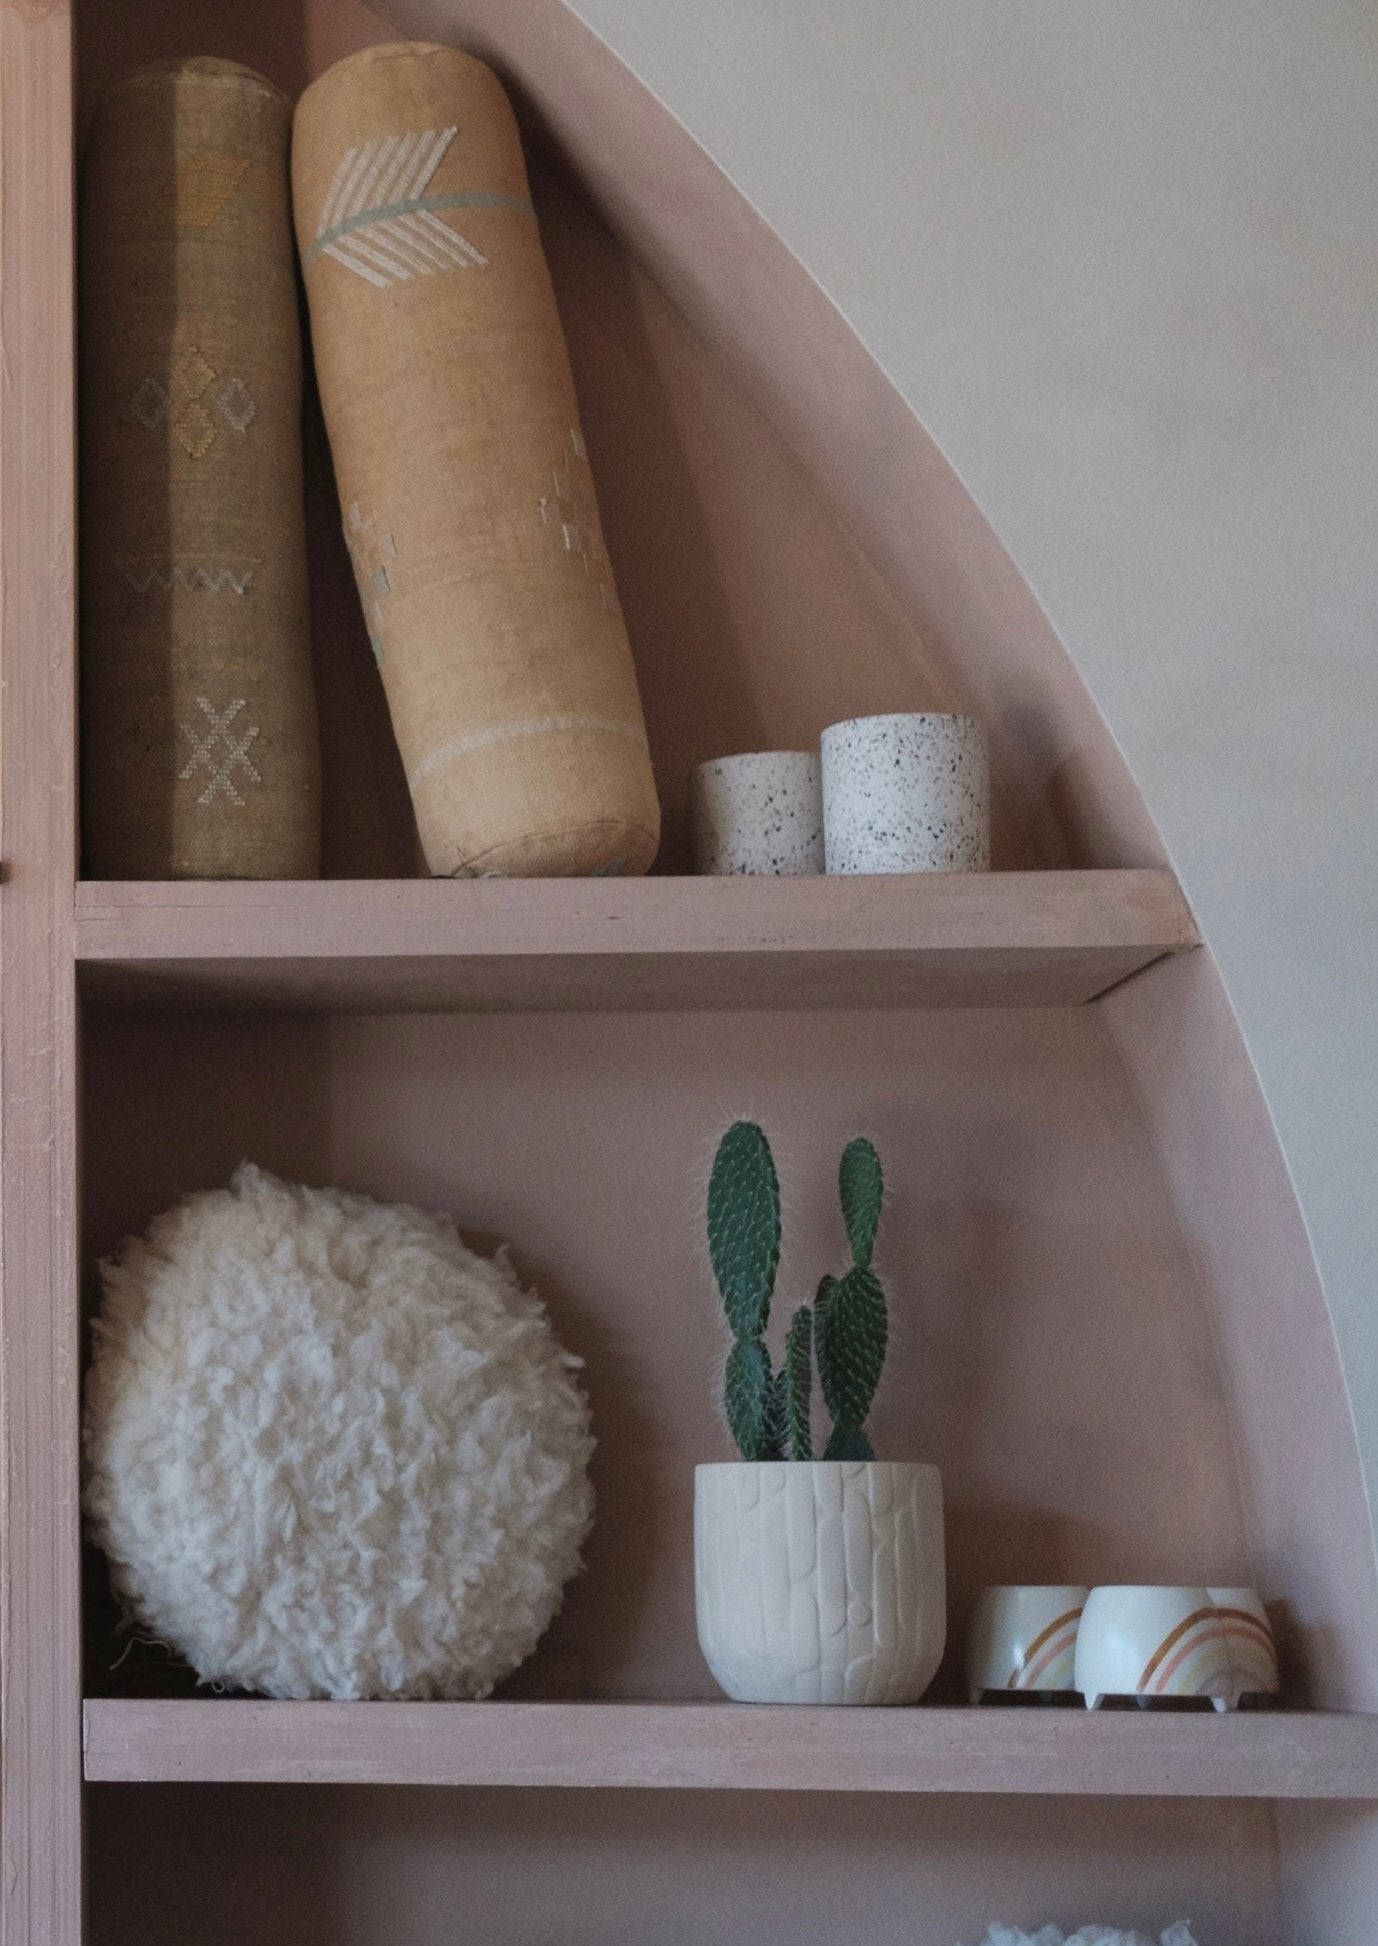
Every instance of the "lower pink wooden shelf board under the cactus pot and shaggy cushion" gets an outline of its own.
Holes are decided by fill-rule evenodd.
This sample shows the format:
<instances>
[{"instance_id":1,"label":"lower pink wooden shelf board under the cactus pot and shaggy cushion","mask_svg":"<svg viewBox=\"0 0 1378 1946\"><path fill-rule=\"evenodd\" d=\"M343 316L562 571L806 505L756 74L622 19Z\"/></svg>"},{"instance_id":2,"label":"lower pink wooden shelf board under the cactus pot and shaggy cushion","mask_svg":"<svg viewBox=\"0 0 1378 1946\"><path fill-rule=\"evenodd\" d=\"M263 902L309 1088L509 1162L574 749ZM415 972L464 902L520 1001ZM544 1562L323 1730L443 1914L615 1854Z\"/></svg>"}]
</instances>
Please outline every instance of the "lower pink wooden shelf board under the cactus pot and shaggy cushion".
<instances>
[{"instance_id":1,"label":"lower pink wooden shelf board under the cactus pot and shaggy cushion","mask_svg":"<svg viewBox=\"0 0 1378 1946\"><path fill-rule=\"evenodd\" d=\"M1378 1716L90 1701L93 1783L1378 1798Z\"/></svg>"}]
</instances>

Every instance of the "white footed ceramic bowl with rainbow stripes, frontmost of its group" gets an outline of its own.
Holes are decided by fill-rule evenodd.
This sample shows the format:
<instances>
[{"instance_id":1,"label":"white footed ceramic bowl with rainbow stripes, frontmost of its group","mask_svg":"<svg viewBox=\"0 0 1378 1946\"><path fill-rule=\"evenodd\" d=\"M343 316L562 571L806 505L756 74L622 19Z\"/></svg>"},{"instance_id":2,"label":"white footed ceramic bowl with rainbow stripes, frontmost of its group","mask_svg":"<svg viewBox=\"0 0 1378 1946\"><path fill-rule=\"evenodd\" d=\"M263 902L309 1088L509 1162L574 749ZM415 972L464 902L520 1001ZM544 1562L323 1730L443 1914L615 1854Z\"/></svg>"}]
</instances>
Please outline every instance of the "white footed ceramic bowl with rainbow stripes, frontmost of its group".
<instances>
[{"instance_id":1,"label":"white footed ceramic bowl with rainbow stripes, frontmost of its group","mask_svg":"<svg viewBox=\"0 0 1378 1946\"><path fill-rule=\"evenodd\" d=\"M1234 1709L1230 1639L1209 1588L1092 1588L1076 1631L1076 1687L1106 1697L1209 1697Z\"/></svg>"}]
</instances>

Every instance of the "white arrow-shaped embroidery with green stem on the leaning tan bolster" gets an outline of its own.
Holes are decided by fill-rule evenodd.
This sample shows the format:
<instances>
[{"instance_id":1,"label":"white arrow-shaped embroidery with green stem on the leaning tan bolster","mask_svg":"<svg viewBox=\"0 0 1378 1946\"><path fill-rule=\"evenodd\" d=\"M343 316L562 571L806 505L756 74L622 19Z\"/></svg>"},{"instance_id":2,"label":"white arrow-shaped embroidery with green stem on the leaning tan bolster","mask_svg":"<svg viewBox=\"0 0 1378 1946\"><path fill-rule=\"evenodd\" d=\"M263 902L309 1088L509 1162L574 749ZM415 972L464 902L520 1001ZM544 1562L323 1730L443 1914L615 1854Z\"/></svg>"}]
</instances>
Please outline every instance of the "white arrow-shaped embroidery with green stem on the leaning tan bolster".
<instances>
[{"instance_id":1,"label":"white arrow-shaped embroidery with green stem on the leaning tan bolster","mask_svg":"<svg viewBox=\"0 0 1378 1946\"><path fill-rule=\"evenodd\" d=\"M483 251L442 224L436 210L514 208L529 216L535 210L524 197L487 191L428 197L426 189L457 132L457 126L420 128L346 148L304 263L333 257L378 290L438 270L485 269L489 259Z\"/></svg>"}]
</instances>

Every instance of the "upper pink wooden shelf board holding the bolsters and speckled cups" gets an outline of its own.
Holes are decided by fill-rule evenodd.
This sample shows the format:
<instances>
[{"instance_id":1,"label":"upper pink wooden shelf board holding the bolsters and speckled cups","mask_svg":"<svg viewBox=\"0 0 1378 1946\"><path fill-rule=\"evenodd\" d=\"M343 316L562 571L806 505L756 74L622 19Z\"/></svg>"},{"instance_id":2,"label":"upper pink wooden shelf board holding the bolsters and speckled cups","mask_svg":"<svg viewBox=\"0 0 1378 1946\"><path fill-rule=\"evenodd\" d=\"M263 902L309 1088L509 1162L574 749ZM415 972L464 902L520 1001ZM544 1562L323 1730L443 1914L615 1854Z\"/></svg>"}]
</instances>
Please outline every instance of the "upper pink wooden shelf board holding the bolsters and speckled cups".
<instances>
[{"instance_id":1,"label":"upper pink wooden shelf board holding the bolsters and speckled cups","mask_svg":"<svg viewBox=\"0 0 1378 1946\"><path fill-rule=\"evenodd\" d=\"M105 883L95 1006L1069 1006L1197 944L1170 872Z\"/></svg>"}]
</instances>

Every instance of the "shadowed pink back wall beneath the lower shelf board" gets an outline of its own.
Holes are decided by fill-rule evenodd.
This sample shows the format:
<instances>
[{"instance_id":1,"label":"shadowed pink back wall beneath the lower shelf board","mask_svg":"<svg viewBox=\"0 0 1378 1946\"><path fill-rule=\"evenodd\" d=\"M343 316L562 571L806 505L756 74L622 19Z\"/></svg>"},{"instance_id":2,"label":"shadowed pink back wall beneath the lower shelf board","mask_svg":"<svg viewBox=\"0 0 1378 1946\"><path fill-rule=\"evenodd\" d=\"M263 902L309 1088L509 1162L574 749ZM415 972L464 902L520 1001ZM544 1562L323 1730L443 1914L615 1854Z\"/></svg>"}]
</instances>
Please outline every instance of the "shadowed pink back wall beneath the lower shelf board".
<instances>
[{"instance_id":1,"label":"shadowed pink back wall beneath the lower shelf board","mask_svg":"<svg viewBox=\"0 0 1378 1946\"><path fill-rule=\"evenodd\" d=\"M91 1946L977 1946L1115 1919L1294 1946L1267 1814L1088 1798L91 1792ZM138 1872L130 1872L138 1858Z\"/></svg>"}]
</instances>

